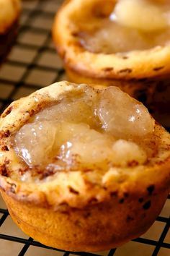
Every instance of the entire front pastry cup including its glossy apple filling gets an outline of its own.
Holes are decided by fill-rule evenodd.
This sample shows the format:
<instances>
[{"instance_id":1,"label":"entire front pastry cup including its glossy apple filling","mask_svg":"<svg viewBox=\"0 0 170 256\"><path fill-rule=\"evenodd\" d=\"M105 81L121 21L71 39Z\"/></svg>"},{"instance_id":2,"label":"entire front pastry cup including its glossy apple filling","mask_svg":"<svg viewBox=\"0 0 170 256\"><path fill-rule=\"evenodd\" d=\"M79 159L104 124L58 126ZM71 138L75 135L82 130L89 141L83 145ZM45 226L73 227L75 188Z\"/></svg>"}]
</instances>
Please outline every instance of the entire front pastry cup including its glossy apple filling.
<instances>
[{"instance_id":1,"label":"entire front pastry cup including its glossy apple filling","mask_svg":"<svg viewBox=\"0 0 170 256\"><path fill-rule=\"evenodd\" d=\"M85 95L83 105L81 105L81 93ZM128 121L129 109L117 124L120 129L108 121L108 116L104 114L106 111L103 110L112 101L112 98L109 98L110 94L116 98L120 97L120 101L123 97L127 104L130 104L120 105L121 111L132 104L131 111L136 121L134 134L131 124L127 123L126 129L122 128L125 121ZM100 95L102 98L98 98ZM90 118L89 114L87 116L89 109L95 105L92 104L93 101L95 104L97 101L100 106L99 108L95 106L94 111L94 118L96 114L97 120L100 118L97 124L101 126L101 122L104 122L103 127L97 127L95 131L94 128L91 130L82 124L83 118L91 127L96 127L91 116ZM68 105L60 105L65 103ZM78 109L74 108L76 104L79 104ZM86 108L87 105L88 108ZM78 141L77 135L73 140L69 137L70 144L67 142L61 146L59 151L61 155L55 157L54 166L51 165L53 158L50 158L53 152L49 153L48 150L42 152L47 146L41 144L44 143L42 140L46 141L46 139L50 144L49 136L53 133L53 123L51 123L53 108L58 111L55 112L57 122L63 116L66 116L67 121L73 121L73 115L76 120L79 119L79 124L69 123L69 127L66 127L64 123L62 129L58 128L59 133L55 134L53 146L59 140L63 140L63 135L73 136L71 132L80 134L79 126L84 131L79 135L82 137L79 137ZM67 113L71 108L73 108L72 116L70 112ZM75 109L77 109L76 114ZM117 111L116 121L122 116L120 110ZM45 113L48 116L45 117ZM115 111L109 112L109 114L113 113ZM45 128L46 121L50 122L50 132ZM109 134L110 131L112 132L112 129L109 129L110 126L114 129L114 135L119 137L113 140L112 148L109 148L112 138ZM106 131L109 129L109 132L108 134L106 131L99 132L102 131L100 129L106 129ZM46 135L42 138L40 134L38 144L35 143L39 136L37 131L44 131L43 135ZM128 137L130 131L131 134ZM88 132L87 137L86 132ZM31 134L36 136L30 137L27 144L25 137ZM132 135L135 136L134 140ZM109 140L107 136L111 136ZM118 88L106 89L102 86L78 86L68 82L58 82L38 90L6 108L0 119L0 137L1 195L14 222L22 231L48 246L91 252L117 247L140 236L151 226L169 194L169 133L154 123L141 103L122 93ZM94 140L94 137L97 140ZM100 140L103 148L99 147ZM79 145L79 142L82 142L83 146ZM71 146L71 143L75 144ZM80 146L83 156L81 155L82 158L79 159L84 167L79 161L77 163L75 161L76 152L80 152ZM133 153L130 153L131 147L133 147ZM32 151L32 148L35 149ZM114 159L112 150L115 150L113 151ZM73 155L69 158L68 155L71 152ZM103 161L99 165L97 154L100 154ZM107 155L109 161L105 161ZM61 156L64 159L63 162L61 162ZM45 161L50 159L48 166L40 166L44 159Z\"/></svg>"}]
</instances>

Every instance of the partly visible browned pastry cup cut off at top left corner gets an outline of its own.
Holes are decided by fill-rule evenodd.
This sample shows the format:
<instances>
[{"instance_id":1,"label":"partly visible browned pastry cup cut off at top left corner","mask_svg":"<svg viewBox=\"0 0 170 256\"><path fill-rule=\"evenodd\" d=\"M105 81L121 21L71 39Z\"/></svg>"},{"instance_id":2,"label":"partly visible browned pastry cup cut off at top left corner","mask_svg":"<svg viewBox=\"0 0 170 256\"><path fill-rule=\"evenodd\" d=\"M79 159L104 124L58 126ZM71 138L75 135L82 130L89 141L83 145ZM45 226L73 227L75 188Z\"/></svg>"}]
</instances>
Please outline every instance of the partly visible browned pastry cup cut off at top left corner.
<instances>
[{"instance_id":1,"label":"partly visible browned pastry cup cut off at top left corner","mask_svg":"<svg viewBox=\"0 0 170 256\"><path fill-rule=\"evenodd\" d=\"M0 64L9 53L17 36L20 0L0 0Z\"/></svg>"}]
</instances>

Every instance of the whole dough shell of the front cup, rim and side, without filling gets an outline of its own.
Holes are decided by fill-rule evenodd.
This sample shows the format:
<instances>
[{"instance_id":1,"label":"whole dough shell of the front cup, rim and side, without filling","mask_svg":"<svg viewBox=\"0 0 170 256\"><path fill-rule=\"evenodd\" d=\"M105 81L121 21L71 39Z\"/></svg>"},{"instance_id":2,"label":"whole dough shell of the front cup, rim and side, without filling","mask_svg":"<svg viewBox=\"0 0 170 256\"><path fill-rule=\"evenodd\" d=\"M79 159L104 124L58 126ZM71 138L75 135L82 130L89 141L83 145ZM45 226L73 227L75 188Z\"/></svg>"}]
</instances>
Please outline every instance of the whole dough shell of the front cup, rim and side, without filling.
<instances>
[{"instance_id":1,"label":"whole dough shell of the front cup, rim and side, without filling","mask_svg":"<svg viewBox=\"0 0 170 256\"><path fill-rule=\"evenodd\" d=\"M14 150L16 132L49 105L61 103L64 97L76 98L84 88L97 95L106 90L58 82L6 108L0 119L0 187L12 219L26 234L51 247L97 252L140 236L155 221L169 194L170 136L145 110L154 131L146 143L152 153L142 164L132 161L116 167L118 174L111 166L103 171L97 167L63 170L56 175L29 167ZM106 152L107 146L103 147ZM28 168L31 176L24 179Z\"/></svg>"}]
</instances>

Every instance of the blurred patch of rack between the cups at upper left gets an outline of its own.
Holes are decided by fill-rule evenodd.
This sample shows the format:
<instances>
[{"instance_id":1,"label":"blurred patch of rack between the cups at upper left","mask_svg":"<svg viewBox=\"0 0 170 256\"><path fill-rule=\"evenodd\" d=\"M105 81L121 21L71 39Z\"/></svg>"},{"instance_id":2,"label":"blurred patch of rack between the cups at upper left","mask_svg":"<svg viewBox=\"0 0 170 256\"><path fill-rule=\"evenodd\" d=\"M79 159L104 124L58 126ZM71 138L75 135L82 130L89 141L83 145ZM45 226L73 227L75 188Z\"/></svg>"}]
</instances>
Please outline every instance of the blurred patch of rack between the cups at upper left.
<instances>
[{"instance_id":1,"label":"blurred patch of rack between the cups at upper left","mask_svg":"<svg viewBox=\"0 0 170 256\"><path fill-rule=\"evenodd\" d=\"M0 108L66 79L51 38L61 0L24 0L17 41L0 67Z\"/></svg>"}]
</instances>

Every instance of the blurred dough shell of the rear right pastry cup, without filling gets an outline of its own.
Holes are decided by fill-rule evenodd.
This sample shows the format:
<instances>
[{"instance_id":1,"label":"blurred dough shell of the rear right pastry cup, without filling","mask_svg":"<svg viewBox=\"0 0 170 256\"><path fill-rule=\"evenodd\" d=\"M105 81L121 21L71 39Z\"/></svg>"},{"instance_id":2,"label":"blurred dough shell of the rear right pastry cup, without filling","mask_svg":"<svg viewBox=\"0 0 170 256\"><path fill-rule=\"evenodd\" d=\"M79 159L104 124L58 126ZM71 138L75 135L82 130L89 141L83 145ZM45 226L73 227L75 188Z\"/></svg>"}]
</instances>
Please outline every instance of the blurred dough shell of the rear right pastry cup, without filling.
<instances>
[{"instance_id":1,"label":"blurred dough shell of the rear right pastry cup, without filling","mask_svg":"<svg viewBox=\"0 0 170 256\"><path fill-rule=\"evenodd\" d=\"M117 85L129 95L143 101L153 113L160 83L167 84L170 81L170 46L157 46L125 54L95 54L79 43L79 33L84 27L88 26L88 30L91 30L99 25L100 15L107 17L115 3L115 0L65 1L56 14L53 25L55 46L71 82ZM159 106L165 105L163 98L166 98L166 114L170 114L170 100L167 98L169 90L166 89L163 86ZM158 111L164 114L162 108Z\"/></svg>"}]
</instances>

